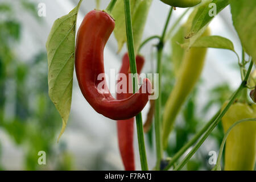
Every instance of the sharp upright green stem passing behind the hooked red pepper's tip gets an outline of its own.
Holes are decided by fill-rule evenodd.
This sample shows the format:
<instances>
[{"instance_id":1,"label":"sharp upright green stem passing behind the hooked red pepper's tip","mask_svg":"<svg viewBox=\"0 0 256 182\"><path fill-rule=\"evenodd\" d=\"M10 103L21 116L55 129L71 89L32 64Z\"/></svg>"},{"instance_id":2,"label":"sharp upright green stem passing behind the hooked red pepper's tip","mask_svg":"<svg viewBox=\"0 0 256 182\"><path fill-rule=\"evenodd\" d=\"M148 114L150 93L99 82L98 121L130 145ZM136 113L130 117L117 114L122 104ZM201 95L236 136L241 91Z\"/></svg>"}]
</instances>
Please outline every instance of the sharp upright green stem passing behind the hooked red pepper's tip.
<instances>
[{"instance_id":1,"label":"sharp upright green stem passing behind the hooked red pepper's tip","mask_svg":"<svg viewBox=\"0 0 256 182\"><path fill-rule=\"evenodd\" d=\"M126 36L127 36L127 47L129 52L129 60L130 60L130 69L131 73L137 73L135 55L134 55L134 42L133 42L133 27L131 25L131 8L130 8L130 0L123 0L125 4L125 23L126 23ZM138 90L138 78L134 78L134 86L133 91L135 93ZM143 133L143 123L142 123L142 115L139 113L136 116L136 126L137 126L137 137L138 137L138 145L139 145L139 156L141 159L141 169L142 171L147 171L147 154L146 148L144 144L144 133Z\"/></svg>"}]
</instances>

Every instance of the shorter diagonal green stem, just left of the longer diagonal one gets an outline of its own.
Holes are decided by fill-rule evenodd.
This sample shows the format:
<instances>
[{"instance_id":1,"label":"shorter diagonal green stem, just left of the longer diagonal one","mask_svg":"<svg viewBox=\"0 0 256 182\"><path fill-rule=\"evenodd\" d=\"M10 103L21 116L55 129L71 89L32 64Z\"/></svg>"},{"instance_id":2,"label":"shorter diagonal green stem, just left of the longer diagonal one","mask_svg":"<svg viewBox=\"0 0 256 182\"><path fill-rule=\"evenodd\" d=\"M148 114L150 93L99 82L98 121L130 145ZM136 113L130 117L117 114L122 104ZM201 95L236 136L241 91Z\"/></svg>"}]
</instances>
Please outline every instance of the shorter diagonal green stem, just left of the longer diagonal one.
<instances>
[{"instance_id":1,"label":"shorter diagonal green stem, just left of the longer diagonal one","mask_svg":"<svg viewBox=\"0 0 256 182\"><path fill-rule=\"evenodd\" d=\"M218 115L220 114L220 110L213 116L212 119L210 119L210 121L203 127L203 129L201 129L198 133L196 133L196 135L189 140L189 142L187 144L185 144L185 146L183 146L175 155L174 157L172 157L171 162L168 164L168 166L166 168L164 168L164 171L167 171L168 169L170 169L172 167L172 165L174 165L174 163L180 158L181 155L184 154L185 151L188 150L189 147L191 147L200 137L201 135L203 135L205 133L205 131L207 131L210 127L210 125L212 125L212 123L215 121L215 119L218 117Z\"/></svg>"}]
</instances>

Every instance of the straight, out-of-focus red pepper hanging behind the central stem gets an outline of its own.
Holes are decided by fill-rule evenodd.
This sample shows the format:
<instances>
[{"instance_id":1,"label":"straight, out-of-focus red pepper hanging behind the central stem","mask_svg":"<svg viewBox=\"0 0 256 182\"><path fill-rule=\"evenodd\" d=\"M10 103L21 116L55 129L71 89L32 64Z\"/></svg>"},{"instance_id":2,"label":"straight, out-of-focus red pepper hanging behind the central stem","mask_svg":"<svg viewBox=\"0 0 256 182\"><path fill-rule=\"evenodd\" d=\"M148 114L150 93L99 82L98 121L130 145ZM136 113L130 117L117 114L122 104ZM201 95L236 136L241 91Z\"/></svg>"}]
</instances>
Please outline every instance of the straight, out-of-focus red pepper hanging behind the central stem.
<instances>
[{"instance_id":1,"label":"straight, out-of-focus red pepper hanging behind the central stem","mask_svg":"<svg viewBox=\"0 0 256 182\"><path fill-rule=\"evenodd\" d=\"M144 64L144 57L136 56L137 73L140 74ZM119 73L124 73L127 78L127 93L117 93L117 99L122 100L130 97L132 94L128 93L129 87L131 86L131 80L129 81L130 64L129 55L126 53L123 56L122 67ZM134 159L134 149L133 149L133 132L134 132L134 118L119 120L117 121L117 133L118 133L118 144L119 151L122 157L123 166L125 166L126 171L135 170L135 159Z\"/></svg>"}]
</instances>

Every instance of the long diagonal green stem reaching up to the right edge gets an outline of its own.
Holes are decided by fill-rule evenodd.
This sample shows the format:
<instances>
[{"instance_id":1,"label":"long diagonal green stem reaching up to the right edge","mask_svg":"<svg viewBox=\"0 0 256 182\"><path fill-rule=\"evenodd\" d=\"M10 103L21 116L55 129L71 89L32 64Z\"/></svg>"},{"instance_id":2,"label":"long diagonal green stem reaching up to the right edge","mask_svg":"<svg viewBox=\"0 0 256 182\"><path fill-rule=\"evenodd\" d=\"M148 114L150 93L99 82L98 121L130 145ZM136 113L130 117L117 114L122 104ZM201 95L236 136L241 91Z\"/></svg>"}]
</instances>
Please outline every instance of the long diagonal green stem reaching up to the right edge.
<instances>
[{"instance_id":1,"label":"long diagonal green stem reaching up to the right edge","mask_svg":"<svg viewBox=\"0 0 256 182\"><path fill-rule=\"evenodd\" d=\"M224 108L224 110L221 111L220 115L216 118L216 120L213 122L213 124L209 127L207 132L204 134L204 136L199 140L199 142L196 144L195 147L192 148L192 150L188 153L187 156L181 161L181 163L174 169L175 171L180 170L183 168L183 166L188 162L188 160L195 154L195 152L199 149L201 144L204 143L205 139L209 136L209 134L213 131L213 129L218 125L218 123L221 121L221 118L226 114L226 111L228 111L229 107L233 104L233 102L236 100L237 96L241 93L241 91L246 88L247 80L250 76L251 69L253 68L253 61L251 61L248 71L246 73L245 79L241 82L239 88L236 90L236 92L233 94L232 98L230 99L228 105Z\"/></svg>"}]
</instances>

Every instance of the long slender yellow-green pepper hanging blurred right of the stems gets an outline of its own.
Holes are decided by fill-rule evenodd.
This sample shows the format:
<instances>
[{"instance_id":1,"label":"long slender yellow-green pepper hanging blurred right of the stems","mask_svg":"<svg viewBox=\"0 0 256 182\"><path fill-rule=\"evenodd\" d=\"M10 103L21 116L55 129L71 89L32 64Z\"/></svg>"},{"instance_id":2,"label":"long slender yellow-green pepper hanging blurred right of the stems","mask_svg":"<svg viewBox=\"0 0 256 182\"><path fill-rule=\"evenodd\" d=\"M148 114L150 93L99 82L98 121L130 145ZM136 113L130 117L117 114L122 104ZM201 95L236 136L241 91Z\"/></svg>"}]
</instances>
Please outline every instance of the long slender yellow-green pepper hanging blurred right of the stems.
<instances>
[{"instance_id":1,"label":"long slender yellow-green pepper hanging blurred right of the stems","mask_svg":"<svg viewBox=\"0 0 256 182\"><path fill-rule=\"evenodd\" d=\"M207 29L202 36L209 36ZM167 102L163 113L163 147L167 148L168 136L171 133L177 114L184 101L191 93L203 71L207 48L191 48L185 52L177 73L177 80Z\"/></svg>"}]
</instances>

